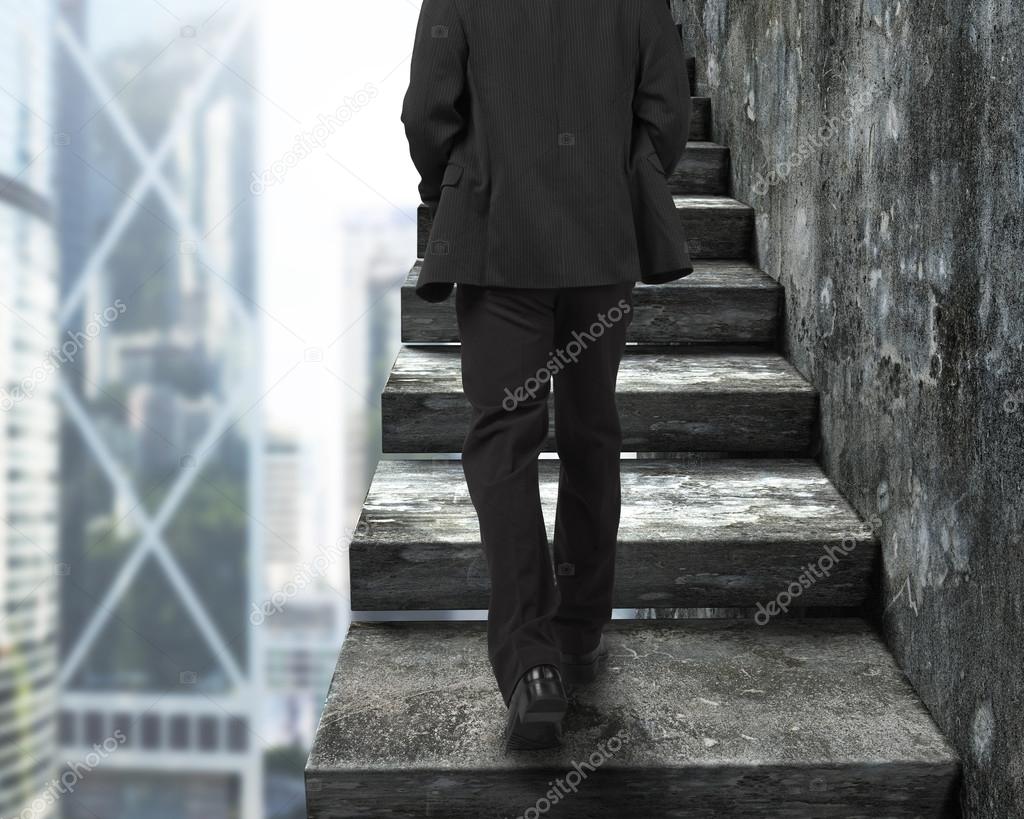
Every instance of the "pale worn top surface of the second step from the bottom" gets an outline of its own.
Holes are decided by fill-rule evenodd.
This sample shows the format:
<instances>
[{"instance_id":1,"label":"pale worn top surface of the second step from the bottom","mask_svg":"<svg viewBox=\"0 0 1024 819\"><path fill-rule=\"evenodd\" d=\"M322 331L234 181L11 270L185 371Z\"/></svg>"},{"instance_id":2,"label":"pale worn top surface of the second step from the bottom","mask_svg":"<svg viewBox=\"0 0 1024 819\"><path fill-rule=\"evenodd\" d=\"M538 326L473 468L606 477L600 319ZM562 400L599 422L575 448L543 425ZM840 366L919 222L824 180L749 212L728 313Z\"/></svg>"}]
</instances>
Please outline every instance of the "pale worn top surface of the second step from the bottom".
<instances>
[{"instance_id":1,"label":"pale worn top surface of the second step from the bottom","mask_svg":"<svg viewBox=\"0 0 1024 819\"><path fill-rule=\"evenodd\" d=\"M542 459L541 502L554 520L557 459ZM622 462L620 543L824 542L851 536L876 543L847 500L809 459L721 459L688 463L672 458ZM462 463L395 459L379 462L362 507L372 544L479 544ZM550 529L550 526L549 526ZM550 540L550 531L549 531Z\"/></svg>"}]
</instances>

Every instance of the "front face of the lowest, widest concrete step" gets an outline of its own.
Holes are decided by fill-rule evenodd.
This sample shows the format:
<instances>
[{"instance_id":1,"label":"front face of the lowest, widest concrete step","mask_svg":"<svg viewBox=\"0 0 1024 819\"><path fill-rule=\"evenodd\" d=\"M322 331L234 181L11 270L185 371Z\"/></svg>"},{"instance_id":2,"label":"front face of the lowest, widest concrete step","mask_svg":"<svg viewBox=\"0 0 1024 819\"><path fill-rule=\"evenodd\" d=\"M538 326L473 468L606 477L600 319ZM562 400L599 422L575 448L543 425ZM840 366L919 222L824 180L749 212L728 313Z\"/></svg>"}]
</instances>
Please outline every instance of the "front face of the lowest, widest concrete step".
<instances>
[{"instance_id":1,"label":"front face of the lowest, widest concrete step","mask_svg":"<svg viewBox=\"0 0 1024 819\"><path fill-rule=\"evenodd\" d=\"M605 759L599 741L596 760ZM581 767L573 768L573 763ZM836 767L693 766L614 770L611 761L502 773L307 772L310 819L389 817L479 819L481 816L616 817L616 819L901 819L957 816L949 780L955 766L889 764ZM575 784L568 788L566 777ZM582 772L582 773L581 773ZM514 775L513 775L514 774ZM586 777L583 776L586 774ZM578 777L578 779L575 778ZM561 780L560 799L551 798ZM894 786L898 782L898 787ZM552 799L551 803L538 800ZM538 805L546 807L540 811Z\"/></svg>"}]
</instances>

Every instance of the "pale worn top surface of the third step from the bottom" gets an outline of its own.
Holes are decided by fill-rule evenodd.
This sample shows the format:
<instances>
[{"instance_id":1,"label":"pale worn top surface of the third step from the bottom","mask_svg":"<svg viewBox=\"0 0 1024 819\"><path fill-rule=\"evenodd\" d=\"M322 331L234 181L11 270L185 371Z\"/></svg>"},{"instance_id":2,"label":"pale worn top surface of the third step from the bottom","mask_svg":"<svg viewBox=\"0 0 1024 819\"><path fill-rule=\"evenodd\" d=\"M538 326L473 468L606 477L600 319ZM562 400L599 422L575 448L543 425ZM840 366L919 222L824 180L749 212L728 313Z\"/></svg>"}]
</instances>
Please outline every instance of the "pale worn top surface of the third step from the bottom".
<instances>
[{"instance_id":1,"label":"pale worn top surface of the third step from the bottom","mask_svg":"<svg viewBox=\"0 0 1024 819\"><path fill-rule=\"evenodd\" d=\"M458 346L402 347L385 390L462 393ZM558 376L554 377L558 389ZM672 393L799 393L814 388L776 352L729 348L627 347L618 370L617 394Z\"/></svg>"}]
</instances>

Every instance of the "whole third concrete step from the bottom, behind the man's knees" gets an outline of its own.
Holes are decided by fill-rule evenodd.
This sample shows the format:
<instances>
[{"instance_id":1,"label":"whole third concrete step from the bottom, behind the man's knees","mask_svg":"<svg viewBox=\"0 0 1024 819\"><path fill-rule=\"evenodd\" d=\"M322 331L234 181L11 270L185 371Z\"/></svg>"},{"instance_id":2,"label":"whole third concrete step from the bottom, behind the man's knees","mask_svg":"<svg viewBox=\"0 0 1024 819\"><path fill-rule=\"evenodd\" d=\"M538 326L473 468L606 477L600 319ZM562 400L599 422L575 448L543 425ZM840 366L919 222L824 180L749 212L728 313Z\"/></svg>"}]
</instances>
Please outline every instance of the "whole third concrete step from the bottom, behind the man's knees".
<instances>
[{"instance_id":1,"label":"whole third concrete step from the bottom, behind the man's knees","mask_svg":"<svg viewBox=\"0 0 1024 819\"><path fill-rule=\"evenodd\" d=\"M627 452L799 455L817 413L814 388L793 364L750 348L628 347L616 400ZM548 406L546 448L554 450L554 401ZM461 452L470 405L459 348L402 347L381 411L385 452Z\"/></svg>"}]
</instances>

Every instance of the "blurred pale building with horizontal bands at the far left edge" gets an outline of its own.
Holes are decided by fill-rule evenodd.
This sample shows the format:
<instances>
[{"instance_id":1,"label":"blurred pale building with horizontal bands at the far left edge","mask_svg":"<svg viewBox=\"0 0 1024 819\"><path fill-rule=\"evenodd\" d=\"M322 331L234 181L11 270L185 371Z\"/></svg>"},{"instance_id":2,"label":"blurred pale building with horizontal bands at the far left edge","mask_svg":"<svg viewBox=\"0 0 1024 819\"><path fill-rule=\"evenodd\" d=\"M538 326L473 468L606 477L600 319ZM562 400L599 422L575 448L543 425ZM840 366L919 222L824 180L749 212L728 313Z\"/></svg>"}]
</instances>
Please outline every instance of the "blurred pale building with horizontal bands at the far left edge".
<instances>
[{"instance_id":1,"label":"blurred pale building with horizontal bands at the far left edge","mask_svg":"<svg viewBox=\"0 0 1024 819\"><path fill-rule=\"evenodd\" d=\"M55 815L53 10L0 0L0 816Z\"/></svg>"}]
</instances>

